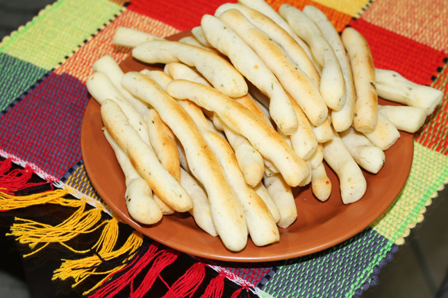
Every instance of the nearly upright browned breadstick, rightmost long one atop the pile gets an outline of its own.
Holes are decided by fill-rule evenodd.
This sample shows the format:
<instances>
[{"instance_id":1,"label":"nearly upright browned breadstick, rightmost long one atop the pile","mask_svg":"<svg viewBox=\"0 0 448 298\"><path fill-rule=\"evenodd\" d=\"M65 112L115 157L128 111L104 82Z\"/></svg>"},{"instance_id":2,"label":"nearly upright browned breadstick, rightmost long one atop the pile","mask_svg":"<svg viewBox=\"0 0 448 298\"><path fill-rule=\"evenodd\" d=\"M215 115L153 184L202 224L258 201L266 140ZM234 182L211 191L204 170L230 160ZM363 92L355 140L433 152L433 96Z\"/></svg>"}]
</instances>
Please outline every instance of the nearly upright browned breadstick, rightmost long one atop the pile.
<instances>
[{"instance_id":1,"label":"nearly upright browned breadstick, rightmost long one atop the pile","mask_svg":"<svg viewBox=\"0 0 448 298\"><path fill-rule=\"evenodd\" d=\"M375 67L367 41L354 28L346 28L342 42L349 54L356 90L353 126L358 132L372 132L378 119Z\"/></svg>"}]
</instances>

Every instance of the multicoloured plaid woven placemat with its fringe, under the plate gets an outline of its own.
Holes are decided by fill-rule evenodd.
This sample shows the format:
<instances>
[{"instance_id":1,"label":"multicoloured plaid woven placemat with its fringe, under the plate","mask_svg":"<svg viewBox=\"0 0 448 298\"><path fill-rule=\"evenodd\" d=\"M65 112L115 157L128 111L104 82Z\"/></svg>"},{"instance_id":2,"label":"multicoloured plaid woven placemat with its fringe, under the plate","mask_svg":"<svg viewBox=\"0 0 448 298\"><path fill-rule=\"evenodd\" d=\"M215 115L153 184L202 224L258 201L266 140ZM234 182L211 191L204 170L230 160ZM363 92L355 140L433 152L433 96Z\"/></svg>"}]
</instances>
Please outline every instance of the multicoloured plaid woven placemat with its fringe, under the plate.
<instances>
[{"instance_id":1,"label":"multicoloured plaid woven placemat with its fringe, under the plate","mask_svg":"<svg viewBox=\"0 0 448 298\"><path fill-rule=\"evenodd\" d=\"M18 218L10 234L30 245L30 254L39 254L50 243L70 249L69 240L101 230L95 253L77 252L78 258L61 263L54 279L76 287L93 275L101 277L83 293L88 297L123 292L144 297L160 281L165 297L222 297L229 289L232 297L356 297L378 282L380 268L447 183L448 7L445 0L267 2L274 9L282 3L299 9L317 6L338 31L351 26L366 37L376 67L444 91L442 105L415 134L413 166L395 203L345 243L274 263L197 260L135 231L118 245L114 235L121 229L119 220L94 191L81 157L91 65L106 54L117 62L130 55L129 49L111 44L118 26L166 37L198 26L202 15L213 14L224 1L59 0L0 44L0 186L5 187L0 209L54 203L77 210L58 225ZM23 170L6 175L8 161ZM39 175L54 189L19 195L17 189L35 186L26 173ZM105 263L107 270L100 266ZM167 281L160 275L164 270L177 276Z\"/></svg>"}]
</instances>

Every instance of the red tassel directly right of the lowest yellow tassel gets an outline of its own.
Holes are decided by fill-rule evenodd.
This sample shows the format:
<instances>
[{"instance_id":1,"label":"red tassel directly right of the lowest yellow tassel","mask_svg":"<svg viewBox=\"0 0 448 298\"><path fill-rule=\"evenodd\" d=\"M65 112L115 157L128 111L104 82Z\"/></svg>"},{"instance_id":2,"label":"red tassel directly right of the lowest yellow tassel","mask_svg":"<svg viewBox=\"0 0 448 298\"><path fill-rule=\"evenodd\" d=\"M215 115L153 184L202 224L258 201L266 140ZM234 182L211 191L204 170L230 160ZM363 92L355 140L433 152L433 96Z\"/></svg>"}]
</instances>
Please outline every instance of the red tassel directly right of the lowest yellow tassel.
<instances>
[{"instance_id":1,"label":"red tassel directly right of the lowest yellow tassel","mask_svg":"<svg viewBox=\"0 0 448 298\"><path fill-rule=\"evenodd\" d=\"M142 254L138 254L133 258L133 261L126 265L126 267L122 268L122 270L118 270L113 274L110 274L106 279L112 279L110 282L105 285L99 284L101 286L90 295L90 298L112 298L115 297L123 288L128 286L129 283L132 283L135 277L156 257L156 252L158 250L157 244L151 244L147 248L146 252L142 252ZM117 274L121 274L118 277L115 277ZM106 279L103 279L106 281Z\"/></svg>"}]
</instances>

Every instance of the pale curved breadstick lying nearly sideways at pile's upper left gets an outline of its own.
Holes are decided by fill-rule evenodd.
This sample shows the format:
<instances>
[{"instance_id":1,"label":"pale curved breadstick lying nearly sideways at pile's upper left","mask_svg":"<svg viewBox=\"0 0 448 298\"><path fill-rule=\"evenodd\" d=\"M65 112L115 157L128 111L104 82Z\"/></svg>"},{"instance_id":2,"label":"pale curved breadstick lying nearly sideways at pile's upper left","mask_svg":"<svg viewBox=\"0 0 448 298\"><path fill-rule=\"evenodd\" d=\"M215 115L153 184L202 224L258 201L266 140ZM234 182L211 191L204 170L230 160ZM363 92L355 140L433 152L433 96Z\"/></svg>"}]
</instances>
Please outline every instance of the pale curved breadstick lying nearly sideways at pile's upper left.
<instances>
[{"instance_id":1,"label":"pale curved breadstick lying nearly sideways at pile's upper left","mask_svg":"<svg viewBox=\"0 0 448 298\"><path fill-rule=\"evenodd\" d=\"M219 55L182 42L157 40L136 46L132 55L147 63L183 62L196 69L217 90L231 97L247 94L247 84L242 75Z\"/></svg>"}]
</instances>

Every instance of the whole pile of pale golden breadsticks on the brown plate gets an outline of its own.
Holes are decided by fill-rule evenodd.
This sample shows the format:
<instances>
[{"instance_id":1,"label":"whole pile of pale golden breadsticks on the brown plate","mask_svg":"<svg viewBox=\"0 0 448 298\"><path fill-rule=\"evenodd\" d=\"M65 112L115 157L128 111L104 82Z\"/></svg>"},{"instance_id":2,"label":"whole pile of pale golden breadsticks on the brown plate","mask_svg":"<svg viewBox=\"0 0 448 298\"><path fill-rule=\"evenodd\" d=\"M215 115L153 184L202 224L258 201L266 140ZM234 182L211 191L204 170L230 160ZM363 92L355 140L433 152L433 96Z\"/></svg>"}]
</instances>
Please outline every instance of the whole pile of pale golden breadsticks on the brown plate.
<instances>
[{"instance_id":1,"label":"whole pile of pale golden breadsticks on the brown plate","mask_svg":"<svg viewBox=\"0 0 448 298\"><path fill-rule=\"evenodd\" d=\"M165 69L123 73L104 56L87 81L103 132L126 177L126 205L143 224L188 211L239 251L279 241L297 218L291 188L363 197L363 168L378 173L384 150L415 132L442 92L375 69L365 38L342 38L314 6L263 0L226 3L174 42L120 27L113 43ZM378 105L378 96L404 105Z\"/></svg>"}]
</instances>

